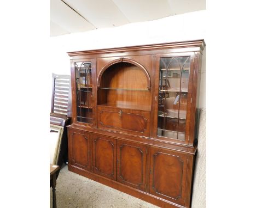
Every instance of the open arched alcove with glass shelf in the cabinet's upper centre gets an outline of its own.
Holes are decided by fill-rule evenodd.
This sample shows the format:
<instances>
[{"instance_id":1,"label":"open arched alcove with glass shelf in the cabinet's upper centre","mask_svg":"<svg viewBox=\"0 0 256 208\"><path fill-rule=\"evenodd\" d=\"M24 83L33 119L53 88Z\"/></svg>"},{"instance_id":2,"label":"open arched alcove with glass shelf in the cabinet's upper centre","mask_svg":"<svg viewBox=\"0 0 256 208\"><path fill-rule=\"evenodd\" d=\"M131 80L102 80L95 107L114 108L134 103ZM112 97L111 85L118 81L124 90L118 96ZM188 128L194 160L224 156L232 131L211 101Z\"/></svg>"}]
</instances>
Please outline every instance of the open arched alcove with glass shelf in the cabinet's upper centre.
<instances>
[{"instance_id":1,"label":"open arched alcove with glass shelf in the cabinet's upper centre","mask_svg":"<svg viewBox=\"0 0 256 208\"><path fill-rule=\"evenodd\" d=\"M98 105L150 111L150 77L139 63L114 60L104 66L97 82Z\"/></svg>"}]
</instances>

